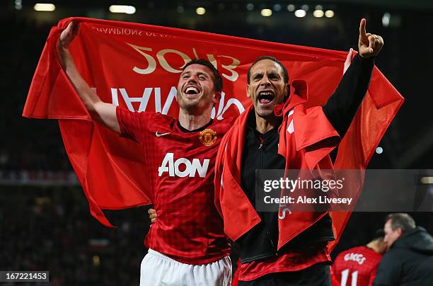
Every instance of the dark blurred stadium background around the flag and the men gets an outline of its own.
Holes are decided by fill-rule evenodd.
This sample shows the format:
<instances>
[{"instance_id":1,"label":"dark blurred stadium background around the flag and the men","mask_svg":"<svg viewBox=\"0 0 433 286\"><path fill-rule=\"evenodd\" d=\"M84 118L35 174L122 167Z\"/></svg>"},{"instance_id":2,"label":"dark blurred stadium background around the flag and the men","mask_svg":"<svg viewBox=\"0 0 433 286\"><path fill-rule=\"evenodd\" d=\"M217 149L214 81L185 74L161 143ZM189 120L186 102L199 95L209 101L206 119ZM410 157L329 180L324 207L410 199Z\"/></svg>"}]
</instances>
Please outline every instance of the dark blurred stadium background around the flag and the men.
<instances>
[{"instance_id":1,"label":"dark blurred stadium background around the flag and the men","mask_svg":"<svg viewBox=\"0 0 433 286\"><path fill-rule=\"evenodd\" d=\"M0 270L50 270L51 285L138 285L146 207L88 212L55 120L21 117L45 39L61 18L85 16L349 50L359 19L382 35L376 65L406 98L369 168L432 168L433 1L37 1L0 9ZM110 5L129 6L112 13ZM36 11L37 9L54 11ZM430 84L429 84L430 83ZM411 213L433 233L432 212ZM354 213L334 251L366 244L386 213ZM17 283L16 285L20 285ZM21 284L23 285L23 284ZM35 285L35 284L32 284ZM45 285L45 284L44 284Z\"/></svg>"}]
</instances>

